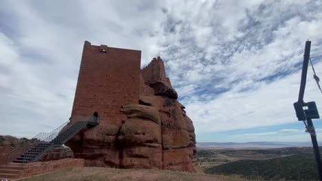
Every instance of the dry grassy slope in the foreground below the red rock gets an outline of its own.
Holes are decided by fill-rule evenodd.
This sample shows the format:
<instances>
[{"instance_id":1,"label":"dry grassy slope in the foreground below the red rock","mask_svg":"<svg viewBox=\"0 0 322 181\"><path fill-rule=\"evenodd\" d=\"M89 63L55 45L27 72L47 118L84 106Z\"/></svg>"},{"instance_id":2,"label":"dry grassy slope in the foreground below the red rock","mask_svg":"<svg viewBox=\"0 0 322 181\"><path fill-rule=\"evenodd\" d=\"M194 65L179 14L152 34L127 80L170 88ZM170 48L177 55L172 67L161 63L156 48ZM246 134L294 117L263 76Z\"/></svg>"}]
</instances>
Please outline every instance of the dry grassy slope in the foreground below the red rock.
<instances>
[{"instance_id":1,"label":"dry grassy slope in the foreground below the red rock","mask_svg":"<svg viewBox=\"0 0 322 181\"><path fill-rule=\"evenodd\" d=\"M148 169L113 169L107 167L74 167L39 176L22 179L21 181L55 181L55 180L157 180L157 181L247 181L239 176L211 176L204 173L186 173L179 171L148 170Z\"/></svg>"}]
</instances>

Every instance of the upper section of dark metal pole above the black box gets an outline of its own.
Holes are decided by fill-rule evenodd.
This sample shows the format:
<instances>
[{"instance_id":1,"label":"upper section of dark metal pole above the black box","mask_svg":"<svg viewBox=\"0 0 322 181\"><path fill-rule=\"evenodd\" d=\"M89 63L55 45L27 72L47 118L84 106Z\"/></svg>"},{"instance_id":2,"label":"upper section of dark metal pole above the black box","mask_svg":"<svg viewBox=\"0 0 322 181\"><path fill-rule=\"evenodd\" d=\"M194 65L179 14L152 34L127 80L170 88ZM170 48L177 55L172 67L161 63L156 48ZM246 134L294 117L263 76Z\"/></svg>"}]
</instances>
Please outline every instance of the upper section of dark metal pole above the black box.
<instances>
[{"instance_id":1,"label":"upper section of dark metal pole above the black box","mask_svg":"<svg viewBox=\"0 0 322 181\"><path fill-rule=\"evenodd\" d=\"M302 77L301 77L301 86L299 90L299 103L303 102L305 84L306 84L306 75L308 74L308 60L310 58L310 49L311 49L311 41L306 41L305 43L305 51L303 58L303 67L302 67Z\"/></svg>"}]
</instances>

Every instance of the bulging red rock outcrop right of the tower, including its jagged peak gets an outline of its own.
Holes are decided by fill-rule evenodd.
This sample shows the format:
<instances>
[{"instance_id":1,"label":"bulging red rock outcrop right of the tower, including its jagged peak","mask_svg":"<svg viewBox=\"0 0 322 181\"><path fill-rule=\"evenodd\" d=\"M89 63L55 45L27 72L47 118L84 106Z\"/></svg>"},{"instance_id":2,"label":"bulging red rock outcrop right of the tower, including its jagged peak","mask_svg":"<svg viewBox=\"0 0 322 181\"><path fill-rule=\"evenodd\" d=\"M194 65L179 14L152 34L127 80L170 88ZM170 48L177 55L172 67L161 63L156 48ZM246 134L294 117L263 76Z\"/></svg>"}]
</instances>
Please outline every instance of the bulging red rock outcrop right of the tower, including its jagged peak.
<instances>
[{"instance_id":1,"label":"bulging red rock outcrop right of the tower, including its jagged peak","mask_svg":"<svg viewBox=\"0 0 322 181\"><path fill-rule=\"evenodd\" d=\"M157 168L200 171L195 159L193 123L165 76L160 57L142 71L140 104L122 106L127 121L116 142L122 147L120 165L126 168ZM154 93L151 91L153 88Z\"/></svg>"}]
</instances>

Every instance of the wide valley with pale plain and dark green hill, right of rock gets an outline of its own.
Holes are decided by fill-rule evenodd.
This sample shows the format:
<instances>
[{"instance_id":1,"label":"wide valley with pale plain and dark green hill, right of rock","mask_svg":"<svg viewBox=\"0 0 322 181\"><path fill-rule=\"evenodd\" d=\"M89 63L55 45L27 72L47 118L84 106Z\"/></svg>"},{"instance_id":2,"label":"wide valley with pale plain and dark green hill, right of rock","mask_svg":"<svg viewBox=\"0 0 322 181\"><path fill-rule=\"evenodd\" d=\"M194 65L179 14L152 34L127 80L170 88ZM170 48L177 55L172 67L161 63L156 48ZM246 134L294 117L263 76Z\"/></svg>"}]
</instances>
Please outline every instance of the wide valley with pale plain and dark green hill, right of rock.
<instances>
[{"instance_id":1,"label":"wide valley with pale plain and dark green hill, right of rock","mask_svg":"<svg viewBox=\"0 0 322 181\"><path fill-rule=\"evenodd\" d=\"M197 147L197 160L205 173L226 176L239 175L254 180L316 180L313 149L299 147L304 143L206 143ZM250 146L253 149L243 149ZM264 147L279 146L265 149ZM230 148L228 148L230 147ZM231 148L233 147L233 148ZM322 147L320 147L320 150Z\"/></svg>"}]
</instances>

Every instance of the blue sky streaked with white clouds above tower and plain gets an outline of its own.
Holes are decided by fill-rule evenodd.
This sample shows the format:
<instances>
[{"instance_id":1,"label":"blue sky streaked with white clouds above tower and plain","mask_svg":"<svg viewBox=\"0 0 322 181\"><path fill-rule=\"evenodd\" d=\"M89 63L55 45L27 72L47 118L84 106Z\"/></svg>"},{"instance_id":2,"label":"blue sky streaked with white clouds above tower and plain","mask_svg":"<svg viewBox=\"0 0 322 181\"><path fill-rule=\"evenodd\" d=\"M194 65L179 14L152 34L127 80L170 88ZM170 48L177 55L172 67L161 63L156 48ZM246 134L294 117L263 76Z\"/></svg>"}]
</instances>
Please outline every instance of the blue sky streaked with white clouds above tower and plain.
<instances>
[{"instance_id":1,"label":"blue sky streaked with white clouds above tower and plain","mask_svg":"<svg viewBox=\"0 0 322 181\"><path fill-rule=\"evenodd\" d=\"M68 121L88 40L141 50L142 68L161 56L199 142L310 141L292 104L305 40L322 77L321 29L322 1L1 1L0 134Z\"/></svg>"}]
</instances>

